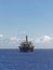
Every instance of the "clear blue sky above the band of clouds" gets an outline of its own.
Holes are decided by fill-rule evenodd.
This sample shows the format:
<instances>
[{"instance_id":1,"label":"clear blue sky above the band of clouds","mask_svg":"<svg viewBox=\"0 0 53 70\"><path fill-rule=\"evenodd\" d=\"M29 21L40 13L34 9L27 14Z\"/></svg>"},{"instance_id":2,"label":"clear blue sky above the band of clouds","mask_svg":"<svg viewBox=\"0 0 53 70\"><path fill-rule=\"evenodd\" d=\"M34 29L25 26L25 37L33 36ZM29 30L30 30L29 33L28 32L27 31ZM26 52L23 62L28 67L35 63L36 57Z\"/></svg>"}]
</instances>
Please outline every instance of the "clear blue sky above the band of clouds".
<instances>
[{"instance_id":1,"label":"clear blue sky above the band of clouds","mask_svg":"<svg viewBox=\"0 0 53 70\"><path fill-rule=\"evenodd\" d=\"M0 34L9 38L24 32L53 37L53 0L0 0Z\"/></svg>"}]
</instances>

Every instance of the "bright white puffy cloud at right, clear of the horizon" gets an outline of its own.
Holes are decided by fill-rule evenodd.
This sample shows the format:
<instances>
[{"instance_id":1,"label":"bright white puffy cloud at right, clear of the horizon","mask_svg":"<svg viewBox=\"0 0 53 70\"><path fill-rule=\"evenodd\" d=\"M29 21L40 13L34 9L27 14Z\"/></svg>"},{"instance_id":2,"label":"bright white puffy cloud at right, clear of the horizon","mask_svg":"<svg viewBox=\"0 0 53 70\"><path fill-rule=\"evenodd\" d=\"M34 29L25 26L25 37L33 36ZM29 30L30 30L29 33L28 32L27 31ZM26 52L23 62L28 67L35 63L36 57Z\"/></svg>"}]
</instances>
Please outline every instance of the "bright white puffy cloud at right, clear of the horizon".
<instances>
[{"instance_id":1,"label":"bright white puffy cloud at right, clear of the horizon","mask_svg":"<svg viewBox=\"0 0 53 70\"><path fill-rule=\"evenodd\" d=\"M53 41L53 38L50 36L42 36L42 37L37 37L35 39L35 43L51 43Z\"/></svg>"}]
</instances>

